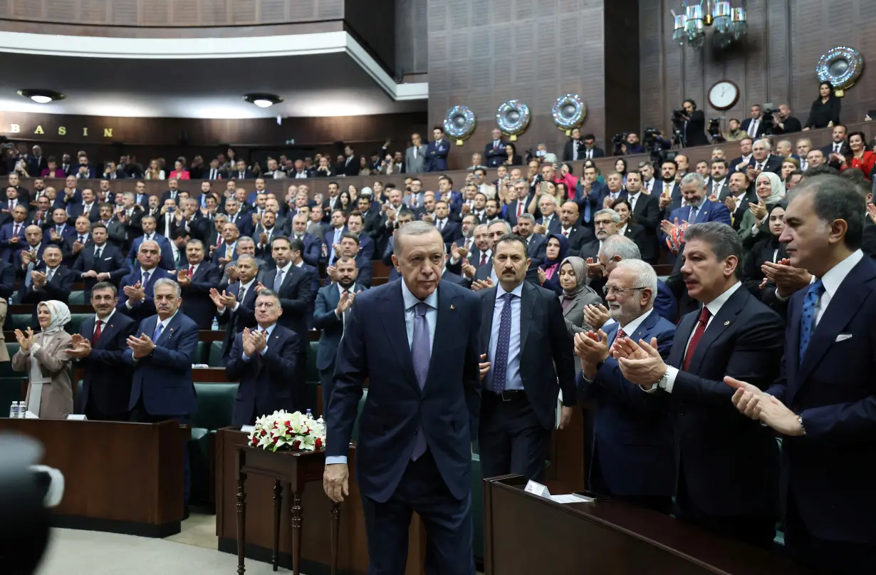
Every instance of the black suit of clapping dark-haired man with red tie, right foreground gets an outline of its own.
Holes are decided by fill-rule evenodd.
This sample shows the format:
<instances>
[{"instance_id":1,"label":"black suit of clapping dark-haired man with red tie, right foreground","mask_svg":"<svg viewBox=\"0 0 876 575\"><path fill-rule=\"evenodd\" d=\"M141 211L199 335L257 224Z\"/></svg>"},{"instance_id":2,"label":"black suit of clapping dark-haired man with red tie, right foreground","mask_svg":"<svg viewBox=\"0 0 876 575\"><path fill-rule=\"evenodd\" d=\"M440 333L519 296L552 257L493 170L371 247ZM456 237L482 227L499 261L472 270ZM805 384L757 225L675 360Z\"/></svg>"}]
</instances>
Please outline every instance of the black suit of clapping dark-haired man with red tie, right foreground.
<instances>
[{"instance_id":1,"label":"black suit of clapping dark-haired man with red tie, right foreground","mask_svg":"<svg viewBox=\"0 0 876 575\"><path fill-rule=\"evenodd\" d=\"M668 366L682 368L699 310L682 317ZM766 389L779 374L781 317L741 285L703 332L672 389L676 465L686 498L709 515L778 516L779 448L772 429L739 415L724 376ZM656 393L666 392L658 390Z\"/></svg>"}]
</instances>

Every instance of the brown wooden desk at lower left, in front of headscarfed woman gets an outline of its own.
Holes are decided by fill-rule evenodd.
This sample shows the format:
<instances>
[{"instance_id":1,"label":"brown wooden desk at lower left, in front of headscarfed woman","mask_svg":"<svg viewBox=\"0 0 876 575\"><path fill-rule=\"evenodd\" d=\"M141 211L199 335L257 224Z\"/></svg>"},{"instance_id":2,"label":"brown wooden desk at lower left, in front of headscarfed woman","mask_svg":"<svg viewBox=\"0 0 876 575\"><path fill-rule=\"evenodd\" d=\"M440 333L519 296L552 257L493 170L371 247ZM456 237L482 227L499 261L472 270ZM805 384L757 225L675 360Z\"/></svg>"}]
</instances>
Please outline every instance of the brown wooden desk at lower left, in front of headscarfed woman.
<instances>
[{"instance_id":1,"label":"brown wooden desk at lower left, in front of headscarfed woman","mask_svg":"<svg viewBox=\"0 0 876 575\"><path fill-rule=\"evenodd\" d=\"M180 532L185 437L178 422L0 419L0 431L39 440L41 463L64 474L55 527L145 537Z\"/></svg>"}]
</instances>

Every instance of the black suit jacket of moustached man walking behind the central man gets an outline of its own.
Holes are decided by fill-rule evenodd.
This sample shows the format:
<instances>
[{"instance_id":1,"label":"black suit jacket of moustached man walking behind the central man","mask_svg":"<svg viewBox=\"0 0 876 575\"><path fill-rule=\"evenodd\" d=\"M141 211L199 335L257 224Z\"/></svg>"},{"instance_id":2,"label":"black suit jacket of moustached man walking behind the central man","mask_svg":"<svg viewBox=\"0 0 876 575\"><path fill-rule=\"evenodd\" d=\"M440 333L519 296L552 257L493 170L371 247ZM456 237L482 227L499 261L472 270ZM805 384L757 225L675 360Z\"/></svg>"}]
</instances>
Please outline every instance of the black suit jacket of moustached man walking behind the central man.
<instances>
[{"instance_id":1,"label":"black suit jacket of moustached man walking behind the central man","mask_svg":"<svg viewBox=\"0 0 876 575\"><path fill-rule=\"evenodd\" d=\"M482 314L481 349L487 354L497 291L498 288L490 288L478 294ZM545 429L554 429L556 399L561 389L563 405L576 403L572 350L572 338L556 294L524 281L520 297L520 379L526 400ZM483 411L481 415L484 416Z\"/></svg>"}]
</instances>

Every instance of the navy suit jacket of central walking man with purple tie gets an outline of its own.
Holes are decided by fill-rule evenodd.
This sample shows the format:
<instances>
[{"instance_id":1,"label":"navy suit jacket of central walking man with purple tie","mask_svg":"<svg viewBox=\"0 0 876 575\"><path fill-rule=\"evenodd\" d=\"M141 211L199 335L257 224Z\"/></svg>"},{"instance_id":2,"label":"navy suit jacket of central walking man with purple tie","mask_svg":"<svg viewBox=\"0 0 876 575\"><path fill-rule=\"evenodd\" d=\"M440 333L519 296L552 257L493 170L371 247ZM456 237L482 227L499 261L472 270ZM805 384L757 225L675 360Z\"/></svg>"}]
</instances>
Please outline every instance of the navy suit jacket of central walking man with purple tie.
<instances>
[{"instance_id":1,"label":"navy suit jacket of central walking man with purple tie","mask_svg":"<svg viewBox=\"0 0 876 575\"><path fill-rule=\"evenodd\" d=\"M392 497L421 429L449 492L462 500L471 489L470 445L477 440L480 411L479 298L439 283L432 357L420 390L407 343L402 281L357 295L337 355L326 455L347 455L362 384L370 379L356 458L363 495L380 503Z\"/></svg>"}]
</instances>

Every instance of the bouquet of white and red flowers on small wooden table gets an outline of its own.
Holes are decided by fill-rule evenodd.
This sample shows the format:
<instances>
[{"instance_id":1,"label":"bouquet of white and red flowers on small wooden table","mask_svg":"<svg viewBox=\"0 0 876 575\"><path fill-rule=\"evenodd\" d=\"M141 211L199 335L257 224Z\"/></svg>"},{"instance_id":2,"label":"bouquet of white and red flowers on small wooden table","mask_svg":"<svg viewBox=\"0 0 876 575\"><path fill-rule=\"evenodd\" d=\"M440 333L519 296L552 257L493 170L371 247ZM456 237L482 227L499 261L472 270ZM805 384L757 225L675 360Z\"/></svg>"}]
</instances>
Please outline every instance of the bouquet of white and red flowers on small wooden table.
<instances>
[{"instance_id":1,"label":"bouquet of white and red flowers on small wooden table","mask_svg":"<svg viewBox=\"0 0 876 575\"><path fill-rule=\"evenodd\" d=\"M309 413L275 411L256 420L250 432L250 445L265 450L316 451L326 444L326 426L320 417Z\"/></svg>"}]
</instances>

